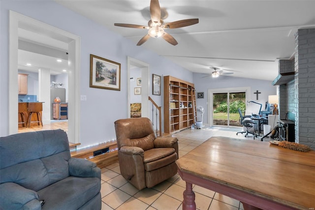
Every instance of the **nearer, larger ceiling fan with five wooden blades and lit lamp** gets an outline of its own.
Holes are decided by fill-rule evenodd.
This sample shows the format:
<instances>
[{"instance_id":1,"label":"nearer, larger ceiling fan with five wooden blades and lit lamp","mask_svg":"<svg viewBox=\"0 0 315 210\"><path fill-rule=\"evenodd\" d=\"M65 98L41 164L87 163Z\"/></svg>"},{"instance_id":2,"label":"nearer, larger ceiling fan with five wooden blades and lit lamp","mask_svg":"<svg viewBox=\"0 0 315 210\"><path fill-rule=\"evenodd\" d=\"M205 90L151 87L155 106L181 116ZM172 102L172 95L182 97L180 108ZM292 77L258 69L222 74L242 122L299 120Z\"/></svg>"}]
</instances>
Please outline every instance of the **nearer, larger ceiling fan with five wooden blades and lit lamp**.
<instances>
[{"instance_id":1,"label":"nearer, larger ceiling fan with five wooden blades and lit lamp","mask_svg":"<svg viewBox=\"0 0 315 210\"><path fill-rule=\"evenodd\" d=\"M161 8L159 6L158 0L151 0L150 2L150 15L151 20L148 22L148 26L134 25L134 24L124 24L124 23L115 23L115 26L127 27L127 28L135 28L135 29L148 29L148 34L143 36L137 45L141 45L146 42L150 37L158 38L162 36L168 43L176 45L178 44L175 38L169 34L167 34L164 29L176 29L182 28L186 26L191 26L199 23L198 18L186 19L174 21L171 23L163 23L161 19Z\"/></svg>"}]
</instances>

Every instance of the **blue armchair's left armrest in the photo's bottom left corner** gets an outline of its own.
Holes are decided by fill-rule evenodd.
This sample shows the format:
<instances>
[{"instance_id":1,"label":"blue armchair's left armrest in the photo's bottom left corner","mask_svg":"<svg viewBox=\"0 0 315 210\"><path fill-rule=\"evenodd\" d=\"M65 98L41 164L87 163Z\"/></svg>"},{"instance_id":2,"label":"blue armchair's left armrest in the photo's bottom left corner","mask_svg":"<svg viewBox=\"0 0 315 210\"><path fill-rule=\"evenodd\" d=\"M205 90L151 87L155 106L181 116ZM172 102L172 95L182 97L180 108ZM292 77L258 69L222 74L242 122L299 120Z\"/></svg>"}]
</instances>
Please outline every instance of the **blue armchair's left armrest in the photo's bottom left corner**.
<instances>
[{"instance_id":1,"label":"blue armchair's left armrest in the photo's bottom left corner","mask_svg":"<svg viewBox=\"0 0 315 210\"><path fill-rule=\"evenodd\" d=\"M14 182L0 184L0 209L40 210L38 194Z\"/></svg>"}]
</instances>

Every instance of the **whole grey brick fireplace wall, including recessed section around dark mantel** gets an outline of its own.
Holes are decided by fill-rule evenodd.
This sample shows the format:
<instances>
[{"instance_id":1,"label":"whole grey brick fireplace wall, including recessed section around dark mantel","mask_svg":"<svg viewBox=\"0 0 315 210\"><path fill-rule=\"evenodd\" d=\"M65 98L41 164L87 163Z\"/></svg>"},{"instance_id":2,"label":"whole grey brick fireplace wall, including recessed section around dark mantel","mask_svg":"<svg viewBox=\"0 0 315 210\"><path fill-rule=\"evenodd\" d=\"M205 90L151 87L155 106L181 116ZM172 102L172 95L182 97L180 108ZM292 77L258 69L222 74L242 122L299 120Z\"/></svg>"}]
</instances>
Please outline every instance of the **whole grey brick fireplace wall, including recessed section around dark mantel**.
<instances>
[{"instance_id":1,"label":"whole grey brick fireplace wall, including recessed section around dark mantel","mask_svg":"<svg viewBox=\"0 0 315 210\"><path fill-rule=\"evenodd\" d=\"M279 86L279 115L295 113L295 142L315 149L315 29L299 29L295 58L280 60L279 70L295 71L294 79Z\"/></svg>"}]
</instances>

